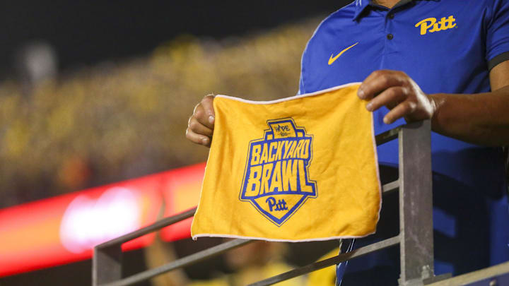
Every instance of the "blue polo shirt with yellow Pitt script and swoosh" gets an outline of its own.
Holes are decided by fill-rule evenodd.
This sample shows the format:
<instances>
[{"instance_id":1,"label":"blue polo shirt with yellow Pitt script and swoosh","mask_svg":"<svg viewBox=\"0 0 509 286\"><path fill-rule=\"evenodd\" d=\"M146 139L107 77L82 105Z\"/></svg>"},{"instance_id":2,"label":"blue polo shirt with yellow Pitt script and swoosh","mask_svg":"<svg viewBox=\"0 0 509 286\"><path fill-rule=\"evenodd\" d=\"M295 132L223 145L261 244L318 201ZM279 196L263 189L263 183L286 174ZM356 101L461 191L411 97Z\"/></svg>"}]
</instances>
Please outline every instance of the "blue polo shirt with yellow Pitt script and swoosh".
<instances>
[{"instance_id":1,"label":"blue polo shirt with yellow Pitt script and swoosh","mask_svg":"<svg viewBox=\"0 0 509 286\"><path fill-rule=\"evenodd\" d=\"M490 91L489 71L509 60L509 1L400 1L389 9L356 0L326 18L302 58L299 93L363 81L379 69L404 71L425 93ZM388 110L374 114L375 132ZM457 275L509 260L509 215L501 148L432 133L435 273ZM378 147L397 166L397 142ZM369 240L369 239L368 239ZM376 268L389 252L351 261ZM397 270L399 273L399 270Z\"/></svg>"}]
</instances>

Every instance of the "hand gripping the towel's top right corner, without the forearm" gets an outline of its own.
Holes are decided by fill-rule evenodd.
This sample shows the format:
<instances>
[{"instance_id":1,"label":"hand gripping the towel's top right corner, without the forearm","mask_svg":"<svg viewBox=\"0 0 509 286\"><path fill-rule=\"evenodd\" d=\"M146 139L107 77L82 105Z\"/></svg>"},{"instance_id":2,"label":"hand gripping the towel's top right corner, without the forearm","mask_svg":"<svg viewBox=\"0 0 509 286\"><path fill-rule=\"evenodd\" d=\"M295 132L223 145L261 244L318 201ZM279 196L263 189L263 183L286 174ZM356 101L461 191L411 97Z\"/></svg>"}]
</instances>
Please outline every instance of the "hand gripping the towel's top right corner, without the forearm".
<instances>
[{"instance_id":1,"label":"hand gripping the towel's top right corner, without the forearm","mask_svg":"<svg viewBox=\"0 0 509 286\"><path fill-rule=\"evenodd\" d=\"M357 95L369 101L366 109L370 112L384 105L390 109L385 124L402 117L407 122L431 119L436 109L433 99L402 71L374 71L365 78Z\"/></svg>"}]
</instances>

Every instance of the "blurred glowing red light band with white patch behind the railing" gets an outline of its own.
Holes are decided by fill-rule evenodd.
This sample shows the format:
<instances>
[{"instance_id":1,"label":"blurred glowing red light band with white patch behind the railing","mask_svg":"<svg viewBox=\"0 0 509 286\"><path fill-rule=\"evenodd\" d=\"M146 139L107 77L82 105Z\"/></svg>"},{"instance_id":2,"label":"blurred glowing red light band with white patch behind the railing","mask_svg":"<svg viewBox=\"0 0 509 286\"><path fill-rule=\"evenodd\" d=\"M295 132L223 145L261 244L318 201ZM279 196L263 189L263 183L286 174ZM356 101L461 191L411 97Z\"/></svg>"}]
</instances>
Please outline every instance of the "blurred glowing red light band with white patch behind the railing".
<instances>
[{"instance_id":1,"label":"blurred glowing red light band with white patch behind the railing","mask_svg":"<svg viewBox=\"0 0 509 286\"><path fill-rule=\"evenodd\" d=\"M173 169L1 209L0 276L91 258L96 244L155 222L163 196L165 215L194 207L204 166ZM192 187L182 189L186 185ZM191 220L185 220L175 225L165 239L189 237L190 224ZM127 242L122 249L147 246L154 235Z\"/></svg>"}]
</instances>

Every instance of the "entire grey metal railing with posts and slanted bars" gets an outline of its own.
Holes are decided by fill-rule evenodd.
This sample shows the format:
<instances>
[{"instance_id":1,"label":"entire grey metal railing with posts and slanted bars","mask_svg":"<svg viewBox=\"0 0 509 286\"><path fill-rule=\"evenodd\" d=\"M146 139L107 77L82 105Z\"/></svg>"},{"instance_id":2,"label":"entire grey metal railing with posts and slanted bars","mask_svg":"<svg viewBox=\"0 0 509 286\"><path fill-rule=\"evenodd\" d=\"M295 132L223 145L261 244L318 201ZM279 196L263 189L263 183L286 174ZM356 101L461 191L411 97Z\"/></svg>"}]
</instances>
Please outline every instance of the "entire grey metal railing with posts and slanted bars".
<instances>
[{"instance_id":1,"label":"entire grey metal railing with posts and slanted bars","mask_svg":"<svg viewBox=\"0 0 509 286\"><path fill-rule=\"evenodd\" d=\"M375 136L377 145L399 140L399 179L382 186L384 194L399 189L399 235L375 244L355 249L346 254L311 263L252 285L272 285L321 268L333 266L341 261L370 254L380 249L399 244L401 273L399 285L427 285L447 278L435 277L433 272L433 196L431 192L431 124L419 121L399 126L396 129ZM180 258L158 268L122 278L122 249L128 242L144 234L160 230L175 222L194 215L196 208L155 222L135 232L125 234L95 246L93 256L93 286L133 285L166 273L170 270L189 266L206 258L252 242L249 239L234 239L213 246L196 254Z\"/></svg>"}]
</instances>

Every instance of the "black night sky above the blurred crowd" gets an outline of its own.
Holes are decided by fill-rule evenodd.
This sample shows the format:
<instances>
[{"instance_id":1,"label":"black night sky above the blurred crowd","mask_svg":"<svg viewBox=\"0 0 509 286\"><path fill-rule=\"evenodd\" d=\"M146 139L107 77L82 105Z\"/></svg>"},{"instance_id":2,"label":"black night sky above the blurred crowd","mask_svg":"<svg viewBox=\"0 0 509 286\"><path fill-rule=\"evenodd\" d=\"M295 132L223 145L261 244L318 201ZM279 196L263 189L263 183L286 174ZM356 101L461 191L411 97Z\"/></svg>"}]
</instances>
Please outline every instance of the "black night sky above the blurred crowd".
<instances>
[{"instance_id":1,"label":"black night sky above the blurred crowd","mask_svg":"<svg viewBox=\"0 0 509 286\"><path fill-rule=\"evenodd\" d=\"M0 78L11 77L16 49L33 40L52 44L67 69L146 54L185 33L242 35L332 13L350 1L1 1Z\"/></svg>"}]
</instances>

